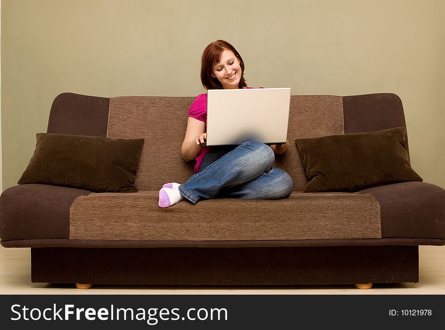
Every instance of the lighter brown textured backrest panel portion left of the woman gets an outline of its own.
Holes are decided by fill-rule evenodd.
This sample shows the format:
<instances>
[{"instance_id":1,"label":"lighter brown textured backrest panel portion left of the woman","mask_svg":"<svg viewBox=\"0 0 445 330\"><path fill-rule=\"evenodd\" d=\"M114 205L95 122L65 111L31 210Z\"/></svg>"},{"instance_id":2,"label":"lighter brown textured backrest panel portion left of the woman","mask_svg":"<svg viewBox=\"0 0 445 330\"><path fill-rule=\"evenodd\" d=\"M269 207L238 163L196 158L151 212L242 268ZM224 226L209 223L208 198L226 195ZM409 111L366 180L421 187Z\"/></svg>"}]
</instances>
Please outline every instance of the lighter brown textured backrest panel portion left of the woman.
<instances>
[{"instance_id":1,"label":"lighter brown textured backrest panel portion left of the woman","mask_svg":"<svg viewBox=\"0 0 445 330\"><path fill-rule=\"evenodd\" d=\"M110 100L108 137L143 137L136 174L139 190L159 190L166 182L185 182L194 162L181 156L187 112L195 98L117 97Z\"/></svg>"}]
</instances>

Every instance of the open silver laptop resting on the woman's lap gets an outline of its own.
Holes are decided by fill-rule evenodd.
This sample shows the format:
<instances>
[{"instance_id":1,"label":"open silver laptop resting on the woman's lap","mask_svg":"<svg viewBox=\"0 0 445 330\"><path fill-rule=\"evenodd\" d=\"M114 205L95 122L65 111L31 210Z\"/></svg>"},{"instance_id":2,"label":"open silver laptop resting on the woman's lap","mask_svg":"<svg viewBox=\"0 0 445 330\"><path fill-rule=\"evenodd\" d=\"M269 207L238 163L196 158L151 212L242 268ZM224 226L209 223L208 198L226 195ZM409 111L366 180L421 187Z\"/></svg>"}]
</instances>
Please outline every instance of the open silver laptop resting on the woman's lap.
<instances>
[{"instance_id":1,"label":"open silver laptop resting on the woman's lap","mask_svg":"<svg viewBox=\"0 0 445 330\"><path fill-rule=\"evenodd\" d=\"M206 145L285 143L290 95L290 87L207 90Z\"/></svg>"}]
</instances>

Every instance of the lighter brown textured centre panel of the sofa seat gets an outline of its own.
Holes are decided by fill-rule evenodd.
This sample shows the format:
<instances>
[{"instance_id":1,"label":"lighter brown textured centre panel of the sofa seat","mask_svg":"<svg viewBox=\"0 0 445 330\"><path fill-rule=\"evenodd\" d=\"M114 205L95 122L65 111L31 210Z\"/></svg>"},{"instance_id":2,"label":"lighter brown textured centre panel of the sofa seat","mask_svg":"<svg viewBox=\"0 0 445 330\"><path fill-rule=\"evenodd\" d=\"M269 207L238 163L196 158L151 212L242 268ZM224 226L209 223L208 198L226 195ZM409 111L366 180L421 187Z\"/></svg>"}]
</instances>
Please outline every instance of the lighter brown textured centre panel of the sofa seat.
<instances>
[{"instance_id":1,"label":"lighter brown textured centre panel of the sofa seat","mask_svg":"<svg viewBox=\"0 0 445 330\"><path fill-rule=\"evenodd\" d=\"M292 193L283 200L187 201L158 207L158 191L79 196L71 206L72 240L258 241L379 239L372 195Z\"/></svg>"}]
</instances>

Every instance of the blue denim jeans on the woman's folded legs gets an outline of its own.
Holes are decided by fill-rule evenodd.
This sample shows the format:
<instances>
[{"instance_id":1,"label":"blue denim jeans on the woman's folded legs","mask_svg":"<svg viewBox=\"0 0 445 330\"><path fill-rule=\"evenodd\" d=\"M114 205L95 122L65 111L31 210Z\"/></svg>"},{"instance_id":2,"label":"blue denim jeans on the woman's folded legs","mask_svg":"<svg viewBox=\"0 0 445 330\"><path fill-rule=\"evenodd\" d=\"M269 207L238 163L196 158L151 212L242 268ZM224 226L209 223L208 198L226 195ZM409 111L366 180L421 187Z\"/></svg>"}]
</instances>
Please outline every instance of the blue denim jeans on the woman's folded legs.
<instances>
[{"instance_id":1,"label":"blue denim jeans on the woman's folded legs","mask_svg":"<svg viewBox=\"0 0 445 330\"><path fill-rule=\"evenodd\" d=\"M206 158L215 161L203 167ZM292 178L281 168L272 167L274 161L271 147L259 142L245 142L231 151L223 148L219 155L209 151L199 172L181 184L179 191L193 203L215 197L287 198L292 192Z\"/></svg>"}]
</instances>

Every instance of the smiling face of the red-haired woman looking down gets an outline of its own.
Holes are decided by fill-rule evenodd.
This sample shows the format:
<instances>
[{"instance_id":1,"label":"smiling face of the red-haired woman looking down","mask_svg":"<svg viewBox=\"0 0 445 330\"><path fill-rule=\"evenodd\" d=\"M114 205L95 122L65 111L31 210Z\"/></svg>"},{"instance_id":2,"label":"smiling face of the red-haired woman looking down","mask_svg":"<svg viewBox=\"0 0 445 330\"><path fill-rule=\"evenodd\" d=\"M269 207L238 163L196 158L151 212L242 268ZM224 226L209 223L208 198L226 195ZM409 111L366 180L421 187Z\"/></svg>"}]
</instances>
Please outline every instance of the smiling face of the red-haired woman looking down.
<instances>
[{"instance_id":1,"label":"smiling face of the red-haired woman looking down","mask_svg":"<svg viewBox=\"0 0 445 330\"><path fill-rule=\"evenodd\" d=\"M232 51L222 51L219 62L213 66L212 76L219 80L224 89L238 88L241 79L240 60Z\"/></svg>"}]
</instances>

